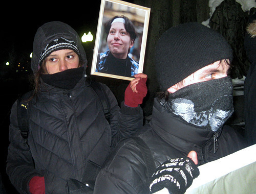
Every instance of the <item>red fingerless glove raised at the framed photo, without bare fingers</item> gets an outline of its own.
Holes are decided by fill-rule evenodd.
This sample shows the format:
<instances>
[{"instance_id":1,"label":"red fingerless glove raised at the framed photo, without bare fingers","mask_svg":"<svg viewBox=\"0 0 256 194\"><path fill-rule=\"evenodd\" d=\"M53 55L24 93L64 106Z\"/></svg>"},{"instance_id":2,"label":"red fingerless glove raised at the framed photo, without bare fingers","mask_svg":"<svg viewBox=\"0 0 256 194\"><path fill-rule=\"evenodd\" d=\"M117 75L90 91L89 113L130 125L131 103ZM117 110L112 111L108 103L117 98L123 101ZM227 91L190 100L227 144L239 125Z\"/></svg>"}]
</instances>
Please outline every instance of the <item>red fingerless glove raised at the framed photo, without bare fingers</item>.
<instances>
[{"instance_id":1,"label":"red fingerless glove raised at the framed photo, without bare fingers","mask_svg":"<svg viewBox=\"0 0 256 194\"><path fill-rule=\"evenodd\" d=\"M124 104L126 106L138 107L138 105L142 104L143 98L147 93L146 80L147 78L142 78L137 84L136 89L138 93L133 92L130 82L124 92Z\"/></svg>"}]
</instances>

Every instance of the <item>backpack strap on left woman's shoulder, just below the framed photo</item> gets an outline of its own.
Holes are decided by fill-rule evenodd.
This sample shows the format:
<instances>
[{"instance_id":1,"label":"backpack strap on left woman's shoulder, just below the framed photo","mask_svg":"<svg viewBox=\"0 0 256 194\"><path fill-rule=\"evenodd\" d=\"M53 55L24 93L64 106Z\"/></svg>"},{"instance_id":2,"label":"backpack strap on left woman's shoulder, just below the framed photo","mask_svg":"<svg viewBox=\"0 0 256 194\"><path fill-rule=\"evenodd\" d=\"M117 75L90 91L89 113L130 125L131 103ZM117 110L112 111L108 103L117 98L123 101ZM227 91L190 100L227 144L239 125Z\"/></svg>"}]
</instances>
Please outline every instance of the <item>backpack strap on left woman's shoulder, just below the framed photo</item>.
<instances>
[{"instance_id":1,"label":"backpack strap on left woman's shoulder, just below the framed photo","mask_svg":"<svg viewBox=\"0 0 256 194\"><path fill-rule=\"evenodd\" d=\"M108 122L110 123L110 117L111 117L110 101L109 101L108 95L106 94L106 91L101 86L101 84L99 84L98 82L91 81L90 86L94 90L96 95L98 96L98 98L101 102L105 117L108 120Z\"/></svg>"}]
</instances>

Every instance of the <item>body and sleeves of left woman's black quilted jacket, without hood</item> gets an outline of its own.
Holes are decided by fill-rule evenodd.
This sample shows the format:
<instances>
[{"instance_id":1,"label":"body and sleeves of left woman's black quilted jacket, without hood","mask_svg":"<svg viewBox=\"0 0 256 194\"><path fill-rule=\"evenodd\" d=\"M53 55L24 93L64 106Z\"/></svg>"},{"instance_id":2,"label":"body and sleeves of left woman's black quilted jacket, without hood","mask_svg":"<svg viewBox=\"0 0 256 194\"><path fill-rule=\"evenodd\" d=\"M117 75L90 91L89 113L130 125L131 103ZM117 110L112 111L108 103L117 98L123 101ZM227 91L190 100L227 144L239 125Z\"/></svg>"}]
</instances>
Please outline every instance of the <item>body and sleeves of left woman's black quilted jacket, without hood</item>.
<instances>
[{"instance_id":1,"label":"body and sleeves of left woman's black quilted jacket, without hood","mask_svg":"<svg viewBox=\"0 0 256 194\"><path fill-rule=\"evenodd\" d=\"M42 84L31 106L27 142L20 135L14 103L7 174L20 193L29 193L33 176L45 177L46 193L66 193L67 179L81 181L88 160L102 165L117 141L142 127L142 109L123 104L120 109L114 94L102 84L111 103L110 125L85 79L72 90Z\"/></svg>"}]
</instances>

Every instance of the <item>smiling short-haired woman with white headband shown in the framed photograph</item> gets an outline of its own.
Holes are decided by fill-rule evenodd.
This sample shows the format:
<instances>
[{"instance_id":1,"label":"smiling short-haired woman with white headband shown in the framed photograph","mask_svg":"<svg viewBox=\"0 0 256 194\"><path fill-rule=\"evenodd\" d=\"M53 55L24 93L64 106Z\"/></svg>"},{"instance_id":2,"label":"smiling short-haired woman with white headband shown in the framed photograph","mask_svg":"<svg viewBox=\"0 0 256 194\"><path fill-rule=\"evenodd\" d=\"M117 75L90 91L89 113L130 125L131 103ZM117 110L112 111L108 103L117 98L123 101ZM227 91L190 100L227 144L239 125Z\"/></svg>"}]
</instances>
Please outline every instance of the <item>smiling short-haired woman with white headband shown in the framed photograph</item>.
<instances>
[{"instance_id":1,"label":"smiling short-haired woman with white headband shown in the framed photograph","mask_svg":"<svg viewBox=\"0 0 256 194\"><path fill-rule=\"evenodd\" d=\"M138 74L139 62L129 56L137 38L132 21L125 16L115 16L105 25L108 50L100 53L96 72L125 77Z\"/></svg>"}]
</instances>

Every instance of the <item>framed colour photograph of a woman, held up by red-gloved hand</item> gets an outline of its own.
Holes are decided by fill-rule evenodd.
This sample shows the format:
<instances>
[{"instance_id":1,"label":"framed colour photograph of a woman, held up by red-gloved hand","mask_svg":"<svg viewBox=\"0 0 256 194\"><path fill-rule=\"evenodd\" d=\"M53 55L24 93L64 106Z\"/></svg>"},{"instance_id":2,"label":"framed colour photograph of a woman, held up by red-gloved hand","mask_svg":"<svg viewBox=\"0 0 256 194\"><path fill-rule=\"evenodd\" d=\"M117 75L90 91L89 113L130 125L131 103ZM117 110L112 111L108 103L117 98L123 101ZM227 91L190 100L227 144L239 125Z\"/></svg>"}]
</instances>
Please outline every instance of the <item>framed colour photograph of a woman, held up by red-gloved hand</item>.
<instances>
[{"instance_id":1,"label":"framed colour photograph of a woman, held up by red-gloved hand","mask_svg":"<svg viewBox=\"0 0 256 194\"><path fill-rule=\"evenodd\" d=\"M102 0L91 75L133 80L142 73L150 8Z\"/></svg>"}]
</instances>

